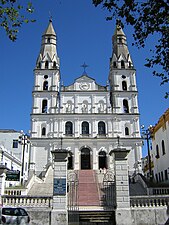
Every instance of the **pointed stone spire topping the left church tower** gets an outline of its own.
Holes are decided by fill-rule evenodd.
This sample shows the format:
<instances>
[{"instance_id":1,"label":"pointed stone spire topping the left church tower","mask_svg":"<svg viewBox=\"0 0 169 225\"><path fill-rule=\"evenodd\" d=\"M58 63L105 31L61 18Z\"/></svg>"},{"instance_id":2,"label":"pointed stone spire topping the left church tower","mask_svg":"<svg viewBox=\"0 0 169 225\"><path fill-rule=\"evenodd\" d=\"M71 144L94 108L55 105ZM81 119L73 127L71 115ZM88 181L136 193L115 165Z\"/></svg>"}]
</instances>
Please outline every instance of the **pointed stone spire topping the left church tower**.
<instances>
[{"instance_id":1,"label":"pointed stone spire topping the left church tower","mask_svg":"<svg viewBox=\"0 0 169 225\"><path fill-rule=\"evenodd\" d=\"M53 69L59 65L56 40L56 33L53 28L52 20L50 19L48 27L42 35L41 49L36 63L37 68Z\"/></svg>"}]
</instances>

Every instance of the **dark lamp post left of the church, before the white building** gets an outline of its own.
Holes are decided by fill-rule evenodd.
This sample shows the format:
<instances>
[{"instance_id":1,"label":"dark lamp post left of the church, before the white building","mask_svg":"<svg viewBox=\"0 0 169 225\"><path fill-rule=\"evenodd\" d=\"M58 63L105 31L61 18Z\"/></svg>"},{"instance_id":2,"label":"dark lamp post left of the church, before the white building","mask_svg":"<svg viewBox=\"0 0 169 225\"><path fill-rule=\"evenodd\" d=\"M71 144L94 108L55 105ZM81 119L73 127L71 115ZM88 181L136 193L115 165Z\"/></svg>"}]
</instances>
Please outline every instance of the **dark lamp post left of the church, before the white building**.
<instances>
[{"instance_id":1,"label":"dark lamp post left of the church, before the white building","mask_svg":"<svg viewBox=\"0 0 169 225\"><path fill-rule=\"evenodd\" d=\"M23 185L23 177L24 177L24 164L25 164L25 147L30 143L28 139L28 135L21 131L21 135L19 136L19 144L22 147L22 168L21 168L21 185Z\"/></svg>"}]
</instances>

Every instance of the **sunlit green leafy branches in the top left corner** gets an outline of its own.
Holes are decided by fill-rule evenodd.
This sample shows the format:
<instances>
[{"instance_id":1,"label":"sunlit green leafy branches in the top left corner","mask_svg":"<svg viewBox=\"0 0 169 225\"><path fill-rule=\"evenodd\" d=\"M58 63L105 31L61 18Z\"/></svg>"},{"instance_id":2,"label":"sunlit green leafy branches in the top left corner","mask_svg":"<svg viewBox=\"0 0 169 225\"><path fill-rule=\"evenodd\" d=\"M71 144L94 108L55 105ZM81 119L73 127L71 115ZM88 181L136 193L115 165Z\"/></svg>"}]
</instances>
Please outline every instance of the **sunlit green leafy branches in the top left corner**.
<instances>
[{"instance_id":1,"label":"sunlit green leafy branches in the top left corner","mask_svg":"<svg viewBox=\"0 0 169 225\"><path fill-rule=\"evenodd\" d=\"M28 19L33 11L31 2L21 5L17 0L0 0L0 26L10 40L17 39L19 28L23 23L34 22L34 20Z\"/></svg>"}]
</instances>

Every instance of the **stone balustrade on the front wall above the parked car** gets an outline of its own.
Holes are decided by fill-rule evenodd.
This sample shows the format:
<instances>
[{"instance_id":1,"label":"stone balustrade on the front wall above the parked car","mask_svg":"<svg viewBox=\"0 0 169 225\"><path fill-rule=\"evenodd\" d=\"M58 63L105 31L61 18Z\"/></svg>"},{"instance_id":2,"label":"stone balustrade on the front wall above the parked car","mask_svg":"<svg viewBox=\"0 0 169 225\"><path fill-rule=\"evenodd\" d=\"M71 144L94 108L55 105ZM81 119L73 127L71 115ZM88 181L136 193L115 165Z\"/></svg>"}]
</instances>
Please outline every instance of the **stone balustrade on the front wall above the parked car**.
<instances>
[{"instance_id":1,"label":"stone balustrade on the front wall above the parked car","mask_svg":"<svg viewBox=\"0 0 169 225\"><path fill-rule=\"evenodd\" d=\"M52 207L52 197L39 197L39 196L11 196L3 195L3 206L23 206L23 207Z\"/></svg>"}]
</instances>

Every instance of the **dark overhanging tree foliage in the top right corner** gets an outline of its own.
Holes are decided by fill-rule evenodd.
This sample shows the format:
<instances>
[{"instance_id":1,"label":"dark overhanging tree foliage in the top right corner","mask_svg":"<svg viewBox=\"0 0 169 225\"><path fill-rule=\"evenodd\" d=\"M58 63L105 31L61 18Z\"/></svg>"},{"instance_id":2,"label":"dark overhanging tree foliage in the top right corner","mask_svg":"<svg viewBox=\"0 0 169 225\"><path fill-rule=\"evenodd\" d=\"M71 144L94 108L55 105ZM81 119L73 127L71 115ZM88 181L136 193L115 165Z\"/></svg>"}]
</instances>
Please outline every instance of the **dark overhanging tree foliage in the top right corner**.
<instances>
[{"instance_id":1,"label":"dark overhanging tree foliage in the top right corner","mask_svg":"<svg viewBox=\"0 0 169 225\"><path fill-rule=\"evenodd\" d=\"M153 75L161 78L161 85L169 82L169 3L168 0L92 0L109 12L107 20L118 18L134 28L134 44L143 48L146 40L157 34L158 40L150 49L145 66L153 68ZM165 98L169 96L166 92Z\"/></svg>"}]
</instances>

